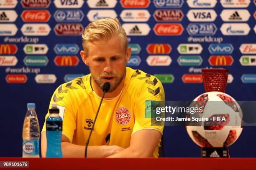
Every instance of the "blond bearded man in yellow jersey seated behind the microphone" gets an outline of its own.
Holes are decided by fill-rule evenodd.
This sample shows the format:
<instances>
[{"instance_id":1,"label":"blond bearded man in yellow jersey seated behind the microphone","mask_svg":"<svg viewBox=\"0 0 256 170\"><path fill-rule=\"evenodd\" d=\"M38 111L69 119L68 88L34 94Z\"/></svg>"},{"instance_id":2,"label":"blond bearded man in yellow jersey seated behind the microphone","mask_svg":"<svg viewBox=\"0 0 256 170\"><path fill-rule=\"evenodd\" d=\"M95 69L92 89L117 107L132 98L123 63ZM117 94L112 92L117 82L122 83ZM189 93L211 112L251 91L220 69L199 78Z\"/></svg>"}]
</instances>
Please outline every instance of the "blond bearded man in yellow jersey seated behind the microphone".
<instances>
[{"instance_id":1,"label":"blond bearded man in yellow jersey seated behind the microphone","mask_svg":"<svg viewBox=\"0 0 256 170\"><path fill-rule=\"evenodd\" d=\"M82 34L80 54L90 74L60 85L52 102L63 119L63 157L84 157L84 145L100 103L102 85L110 82L105 94L87 157L158 157L163 126L151 126L145 116L146 100L164 101L161 82L152 75L126 67L131 47L117 19L90 23ZM46 115L46 118L49 113ZM46 155L46 127L41 133L41 153Z\"/></svg>"}]
</instances>

